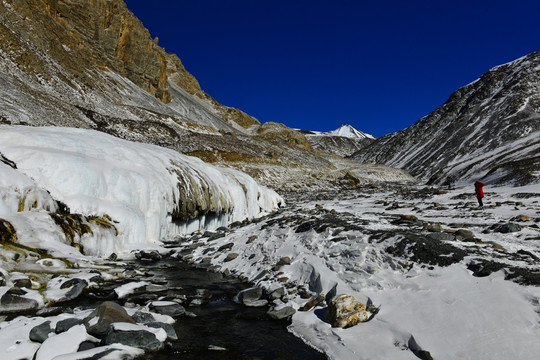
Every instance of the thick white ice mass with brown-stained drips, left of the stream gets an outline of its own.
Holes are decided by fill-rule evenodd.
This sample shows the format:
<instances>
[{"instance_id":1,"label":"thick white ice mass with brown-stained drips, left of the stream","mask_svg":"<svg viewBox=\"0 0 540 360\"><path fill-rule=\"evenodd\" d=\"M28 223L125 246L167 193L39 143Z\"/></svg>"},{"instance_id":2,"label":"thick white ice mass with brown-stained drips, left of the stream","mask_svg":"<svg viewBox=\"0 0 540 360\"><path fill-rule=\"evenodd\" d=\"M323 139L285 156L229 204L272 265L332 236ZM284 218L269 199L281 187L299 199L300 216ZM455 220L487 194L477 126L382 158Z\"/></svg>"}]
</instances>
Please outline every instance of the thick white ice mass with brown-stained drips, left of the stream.
<instances>
[{"instance_id":1,"label":"thick white ice mass with brown-stained drips, left of the stream","mask_svg":"<svg viewBox=\"0 0 540 360\"><path fill-rule=\"evenodd\" d=\"M92 130L4 125L0 152L0 217L37 248L71 239L86 254L125 254L282 203L239 171Z\"/></svg>"}]
</instances>

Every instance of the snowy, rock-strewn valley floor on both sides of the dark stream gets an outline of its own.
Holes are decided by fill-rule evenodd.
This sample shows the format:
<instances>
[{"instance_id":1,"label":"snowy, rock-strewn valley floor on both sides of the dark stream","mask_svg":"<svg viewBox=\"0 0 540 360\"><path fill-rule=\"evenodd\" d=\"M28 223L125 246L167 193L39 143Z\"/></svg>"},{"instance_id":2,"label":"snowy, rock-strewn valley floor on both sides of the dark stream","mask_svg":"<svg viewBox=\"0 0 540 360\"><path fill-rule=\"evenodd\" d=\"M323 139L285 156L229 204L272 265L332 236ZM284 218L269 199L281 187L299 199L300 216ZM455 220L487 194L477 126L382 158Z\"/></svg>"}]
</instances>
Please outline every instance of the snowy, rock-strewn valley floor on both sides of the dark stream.
<instances>
[{"instance_id":1,"label":"snowy, rock-strewn valley floor on both sides of the dark stream","mask_svg":"<svg viewBox=\"0 0 540 360\"><path fill-rule=\"evenodd\" d=\"M249 289L225 291L239 312L263 309L283 326L290 319L288 330L329 359L537 359L540 191L487 188L479 208L472 190L383 184L290 193L277 213L167 239L159 254L137 255L245 280ZM182 292L113 259L66 267L2 246L2 268L11 269L0 288L9 310L0 323L2 359L148 356L175 336L181 342L171 327L211 302L204 292ZM36 284L36 273L47 271L49 281ZM345 316L338 327L332 300L342 294L363 304L360 323ZM87 306L105 300L121 305L131 327L95 329L102 319L92 320ZM62 310L77 301L80 308ZM62 323L69 319L73 327ZM38 336L34 329L47 321L49 330ZM152 341L129 343L129 331ZM53 346L67 338L71 347Z\"/></svg>"}]
</instances>

